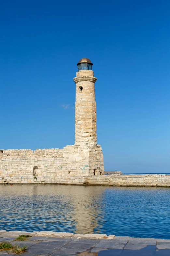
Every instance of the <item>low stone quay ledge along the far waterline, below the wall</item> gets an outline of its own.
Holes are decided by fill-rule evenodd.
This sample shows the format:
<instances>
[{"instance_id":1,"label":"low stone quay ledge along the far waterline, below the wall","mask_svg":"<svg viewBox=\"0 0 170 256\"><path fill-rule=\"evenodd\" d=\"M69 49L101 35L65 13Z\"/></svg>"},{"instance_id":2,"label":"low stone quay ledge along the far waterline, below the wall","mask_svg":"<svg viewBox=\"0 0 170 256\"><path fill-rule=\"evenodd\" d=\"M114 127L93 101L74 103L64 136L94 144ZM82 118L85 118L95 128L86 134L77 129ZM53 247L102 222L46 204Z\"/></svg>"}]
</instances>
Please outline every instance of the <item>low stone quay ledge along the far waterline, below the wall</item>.
<instances>
[{"instance_id":1,"label":"low stone quay ledge along the far waterline, below the wall","mask_svg":"<svg viewBox=\"0 0 170 256\"><path fill-rule=\"evenodd\" d=\"M170 175L167 174L127 174L101 176L15 176L0 177L0 184L13 185L94 185L94 186L136 186L170 187Z\"/></svg>"}]
</instances>

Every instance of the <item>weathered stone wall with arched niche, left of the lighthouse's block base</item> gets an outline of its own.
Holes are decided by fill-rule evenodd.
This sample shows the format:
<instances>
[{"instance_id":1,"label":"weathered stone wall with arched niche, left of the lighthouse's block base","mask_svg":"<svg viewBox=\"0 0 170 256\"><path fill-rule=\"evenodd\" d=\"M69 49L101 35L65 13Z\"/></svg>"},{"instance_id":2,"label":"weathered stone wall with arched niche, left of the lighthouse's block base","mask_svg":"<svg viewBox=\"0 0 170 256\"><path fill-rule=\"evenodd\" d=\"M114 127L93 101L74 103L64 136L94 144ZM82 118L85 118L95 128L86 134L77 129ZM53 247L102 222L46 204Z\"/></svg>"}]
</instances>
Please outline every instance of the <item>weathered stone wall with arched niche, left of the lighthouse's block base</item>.
<instances>
[{"instance_id":1,"label":"weathered stone wall with arched niche, left of the lighthouse's block base","mask_svg":"<svg viewBox=\"0 0 170 256\"><path fill-rule=\"evenodd\" d=\"M36 168L36 176L54 176L60 173L63 161L63 149L30 149L4 150L0 155L0 177L33 177L33 169Z\"/></svg>"}]
</instances>

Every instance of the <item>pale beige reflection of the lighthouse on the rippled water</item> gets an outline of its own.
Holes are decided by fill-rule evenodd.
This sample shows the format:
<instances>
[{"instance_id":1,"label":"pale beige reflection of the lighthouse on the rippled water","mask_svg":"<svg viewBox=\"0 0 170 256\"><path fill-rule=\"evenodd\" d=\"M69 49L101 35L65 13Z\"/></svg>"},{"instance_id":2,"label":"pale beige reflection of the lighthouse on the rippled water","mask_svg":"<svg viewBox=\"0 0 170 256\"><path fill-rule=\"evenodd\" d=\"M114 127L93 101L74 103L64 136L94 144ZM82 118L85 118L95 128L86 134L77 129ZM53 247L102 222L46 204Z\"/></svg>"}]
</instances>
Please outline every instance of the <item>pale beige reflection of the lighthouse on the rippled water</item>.
<instances>
[{"instance_id":1,"label":"pale beige reflection of the lighthouse on the rippled water","mask_svg":"<svg viewBox=\"0 0 170 256\"><path fill-rule=\"evenodd\" d=\"M73 206L72 219L76 223L77 234L101 233L101 218L104 217L101 202L105 187L74 186L72 187L71 204Z\"/></svg>"}]
</instances>

